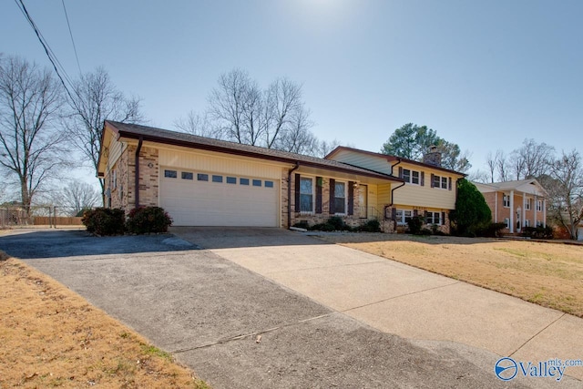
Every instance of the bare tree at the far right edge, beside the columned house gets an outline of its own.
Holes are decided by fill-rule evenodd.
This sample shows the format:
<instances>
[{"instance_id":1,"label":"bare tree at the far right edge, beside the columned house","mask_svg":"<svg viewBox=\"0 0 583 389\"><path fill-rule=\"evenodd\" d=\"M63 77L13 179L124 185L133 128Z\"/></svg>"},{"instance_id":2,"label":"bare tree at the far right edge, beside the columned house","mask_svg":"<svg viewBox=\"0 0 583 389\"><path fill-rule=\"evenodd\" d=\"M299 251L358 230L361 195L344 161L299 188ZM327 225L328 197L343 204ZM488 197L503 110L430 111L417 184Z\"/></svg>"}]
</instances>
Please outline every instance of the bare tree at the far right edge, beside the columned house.
<instances>
[{"instance_id":1,"label":"bare tree at the far right edge, beside the columned house","mask_svg":"<svg viewBox=\"0 0 583 389\"><path fill-rule=\"evenodd\" d=\"M561 157L549 165L553 185L547 190L550 194L550 210L556 220L571 235L578 239L578 225L583 220L583 166L577 150Z\"/></svg>"}]
</instances>

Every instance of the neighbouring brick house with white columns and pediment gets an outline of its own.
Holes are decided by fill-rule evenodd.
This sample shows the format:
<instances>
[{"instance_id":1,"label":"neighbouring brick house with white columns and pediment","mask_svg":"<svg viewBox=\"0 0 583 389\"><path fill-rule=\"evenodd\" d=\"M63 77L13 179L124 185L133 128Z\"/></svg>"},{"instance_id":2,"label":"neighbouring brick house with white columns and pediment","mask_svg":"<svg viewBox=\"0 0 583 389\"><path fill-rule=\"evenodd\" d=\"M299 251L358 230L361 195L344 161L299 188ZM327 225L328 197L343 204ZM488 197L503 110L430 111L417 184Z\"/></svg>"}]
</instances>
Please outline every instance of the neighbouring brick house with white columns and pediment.
<instances>
[{"instance_id":1,"label":"neighbouring brick house with white columns and pediment","mask_svg":"<svg viewBox=\"0 0 583 389\"><path fill-rule=\"evenodd\" d=\"M507 232L519 233L523 227L547 226L547 191L536 179L474 182L492 210L495 223L506 223Z\"/></svg>"}]
</instances>

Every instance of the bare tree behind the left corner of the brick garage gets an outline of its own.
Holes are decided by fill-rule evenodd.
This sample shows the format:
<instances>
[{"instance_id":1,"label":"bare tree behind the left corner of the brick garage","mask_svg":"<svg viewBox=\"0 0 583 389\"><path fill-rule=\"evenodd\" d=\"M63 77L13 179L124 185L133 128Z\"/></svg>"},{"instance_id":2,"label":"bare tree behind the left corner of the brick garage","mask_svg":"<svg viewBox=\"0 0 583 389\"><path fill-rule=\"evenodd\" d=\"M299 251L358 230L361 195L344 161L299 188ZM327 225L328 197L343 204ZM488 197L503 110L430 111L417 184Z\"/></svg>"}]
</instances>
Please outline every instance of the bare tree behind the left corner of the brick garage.
<instances>
[{"instance_id":1,"label":"bare tree behind the left corner of the brick garage","mask_svg":"<svg viewBox=\"0 0 583 389\"><path fill-rule=\"evenodd\" d=\"M144 118L139 110L140 99L126 98L113 85L103 67L97 67L94 73L87 73L77 81L74 97L74 101L69 100L72 112L66 126L75 146L97 171L103 122L143 122ZM99 184L103 194L104 183L101 179Z\"/></svg>"}]
</instances>

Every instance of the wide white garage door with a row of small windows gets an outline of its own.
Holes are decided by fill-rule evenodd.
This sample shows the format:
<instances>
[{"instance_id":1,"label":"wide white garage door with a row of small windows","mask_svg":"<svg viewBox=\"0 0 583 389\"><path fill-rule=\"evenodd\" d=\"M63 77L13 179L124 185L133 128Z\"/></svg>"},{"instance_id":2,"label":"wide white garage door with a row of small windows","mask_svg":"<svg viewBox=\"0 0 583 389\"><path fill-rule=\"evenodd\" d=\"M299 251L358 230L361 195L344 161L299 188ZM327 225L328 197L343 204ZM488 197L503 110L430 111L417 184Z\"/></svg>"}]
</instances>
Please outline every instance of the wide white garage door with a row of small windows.
<instances>
[{"instance_id":1,"label":"wide white garage door with a row of small windows","mask_svg":"<svg viewBox=\"0 0 583 389\"><path fill-rule=\"evenodd\" d=\"M160 207L175 226L279 227L276 180L160 170Z\"/></svg>"}]
</instances>

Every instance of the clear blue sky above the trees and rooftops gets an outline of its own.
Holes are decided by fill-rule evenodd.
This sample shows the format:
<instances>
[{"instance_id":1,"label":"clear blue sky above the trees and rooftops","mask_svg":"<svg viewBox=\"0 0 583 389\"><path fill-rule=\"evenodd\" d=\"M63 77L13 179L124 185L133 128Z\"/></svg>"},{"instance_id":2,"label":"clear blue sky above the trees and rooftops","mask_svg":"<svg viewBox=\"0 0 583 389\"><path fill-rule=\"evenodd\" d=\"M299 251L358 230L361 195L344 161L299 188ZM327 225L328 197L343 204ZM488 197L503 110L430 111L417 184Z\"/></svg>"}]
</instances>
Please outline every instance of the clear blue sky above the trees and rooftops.
<instances>
[{"instance_id":1,"label":"clear blue sky above the trees and rooftops","mask_svg":"<svg viewBox=\"0 0 583 389\"><path fill-rule=\"evenodd\" d=\"M61 0L25 0L70 77L77 62ZM107 69L143 99L149 125L173 129L207 107L221 73L261 86L302 83L314 134L378 151L415 123L472 153L525 138L583 145L583 2L65 0L82 71ZM12 1L0 4L0 52L48 66Z\"/></svg>"}]
</instances>

